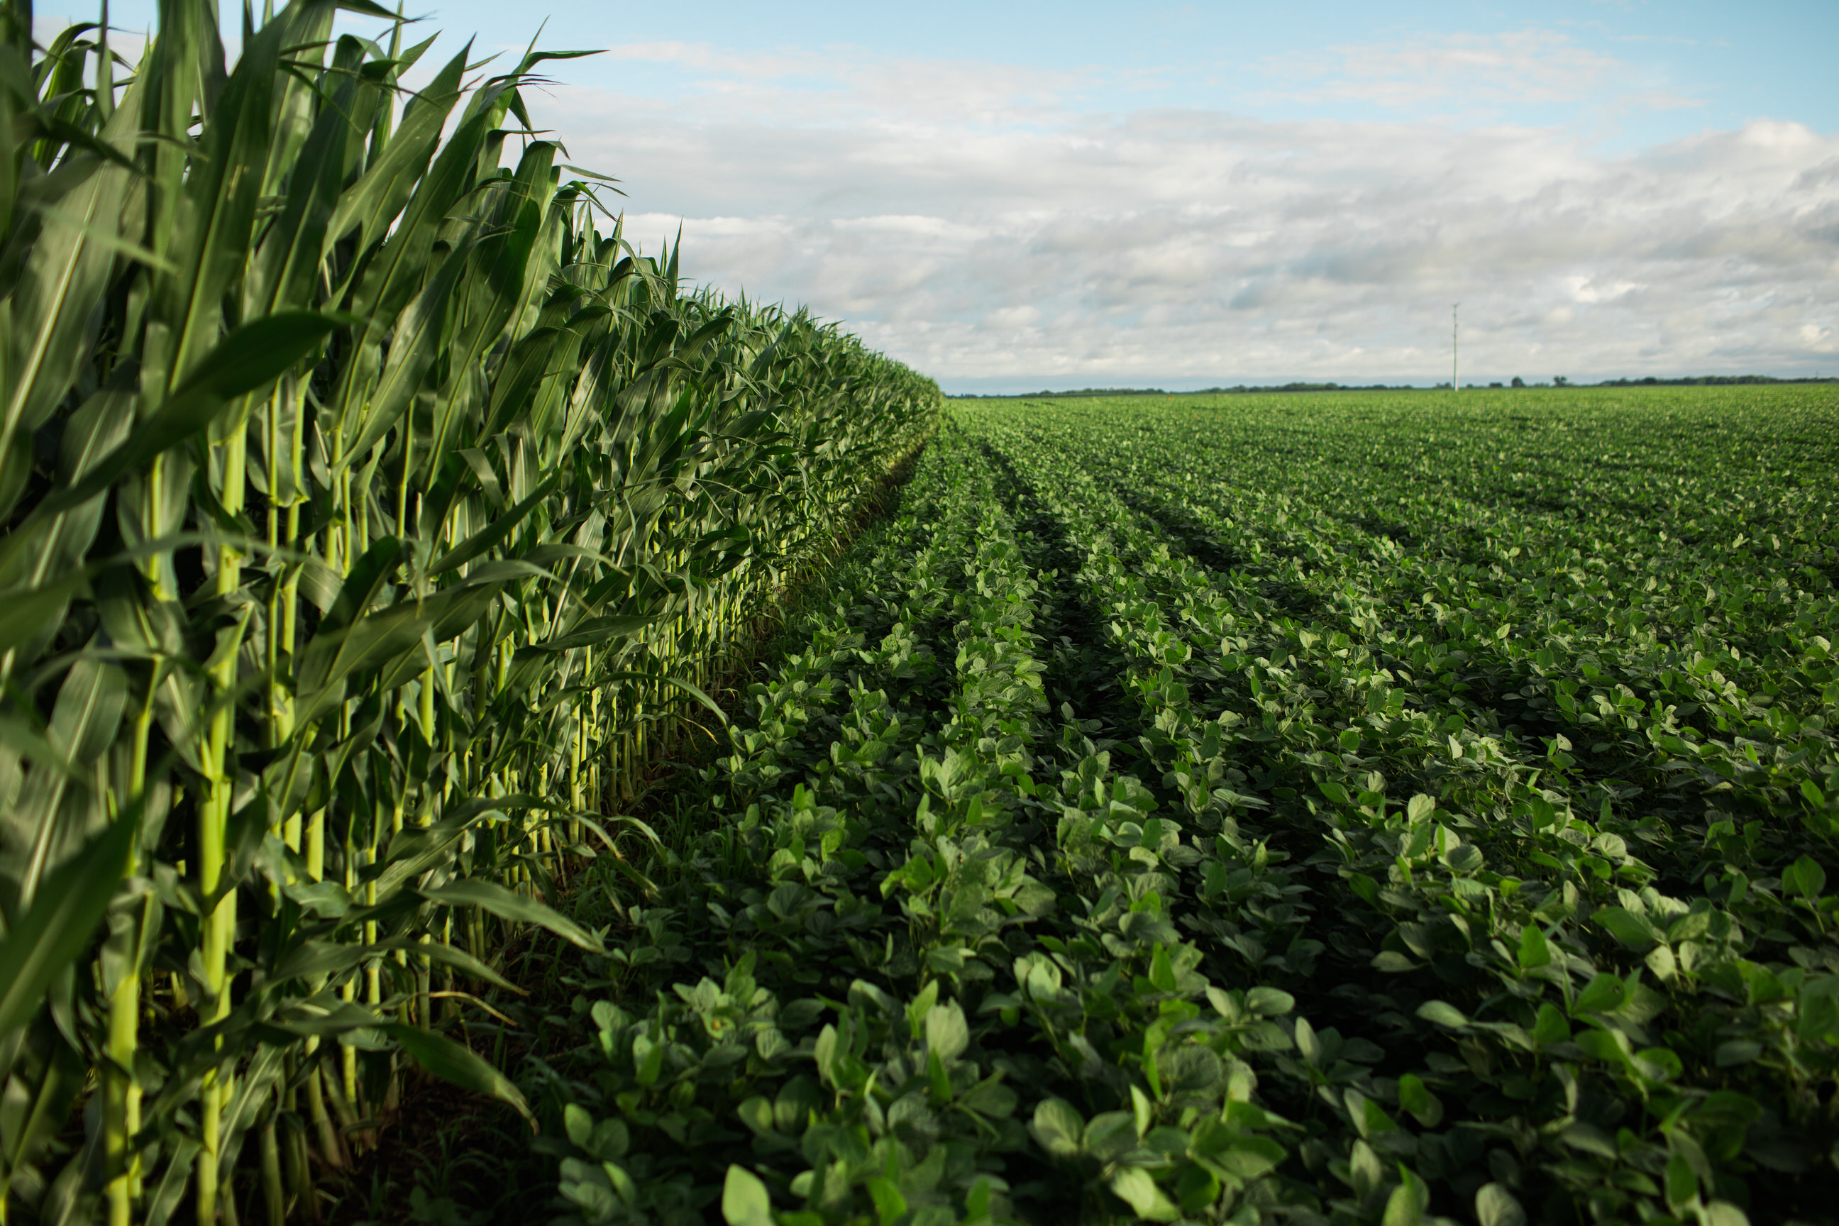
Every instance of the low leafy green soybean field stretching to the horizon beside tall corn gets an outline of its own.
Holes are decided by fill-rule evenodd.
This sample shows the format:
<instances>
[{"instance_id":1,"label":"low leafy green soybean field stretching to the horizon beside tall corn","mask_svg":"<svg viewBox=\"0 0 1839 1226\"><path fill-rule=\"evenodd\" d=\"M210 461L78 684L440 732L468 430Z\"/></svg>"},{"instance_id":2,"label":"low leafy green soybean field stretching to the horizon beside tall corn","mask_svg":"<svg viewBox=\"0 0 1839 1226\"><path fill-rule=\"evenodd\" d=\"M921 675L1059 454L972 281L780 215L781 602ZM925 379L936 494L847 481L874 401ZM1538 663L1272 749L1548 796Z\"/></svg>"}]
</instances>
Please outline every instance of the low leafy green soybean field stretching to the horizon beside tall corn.
<instances>
[{"instance_id":1,"label":"low leafy green soybean field stretching to the horizon beside tall corn","mask_svg":"<svg viewBox=\"0 0 1839 1226\"><path fill-rule=\"evenodd\" d=\"M576 899L559 1220L1819 1220L1835 439L1806 388L954 404Z\"/></svg>"}]
</instances>

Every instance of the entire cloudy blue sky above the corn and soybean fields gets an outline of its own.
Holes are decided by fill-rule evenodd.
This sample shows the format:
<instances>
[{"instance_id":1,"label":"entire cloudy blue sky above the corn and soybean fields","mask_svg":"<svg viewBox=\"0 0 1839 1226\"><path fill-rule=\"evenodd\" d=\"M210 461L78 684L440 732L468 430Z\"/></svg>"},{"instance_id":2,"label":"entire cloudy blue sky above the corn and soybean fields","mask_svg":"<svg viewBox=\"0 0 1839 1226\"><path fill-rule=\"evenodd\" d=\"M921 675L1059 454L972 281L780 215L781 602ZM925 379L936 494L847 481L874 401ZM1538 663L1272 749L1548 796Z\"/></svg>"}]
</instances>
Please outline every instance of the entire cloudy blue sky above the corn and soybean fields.
<instances>
[{"instance_id":1,"label":"entire cloudy blue sky above the corn and soybean fields","mask_svg":"<svg viewBox=\"0 0 1839 1226\"><path fill-rule=\"evenodd\" d=\"M408 11L601 50L526 97L629 237L947 392L1839 375L1833 0Z\"/></svg>"}]
</instances>

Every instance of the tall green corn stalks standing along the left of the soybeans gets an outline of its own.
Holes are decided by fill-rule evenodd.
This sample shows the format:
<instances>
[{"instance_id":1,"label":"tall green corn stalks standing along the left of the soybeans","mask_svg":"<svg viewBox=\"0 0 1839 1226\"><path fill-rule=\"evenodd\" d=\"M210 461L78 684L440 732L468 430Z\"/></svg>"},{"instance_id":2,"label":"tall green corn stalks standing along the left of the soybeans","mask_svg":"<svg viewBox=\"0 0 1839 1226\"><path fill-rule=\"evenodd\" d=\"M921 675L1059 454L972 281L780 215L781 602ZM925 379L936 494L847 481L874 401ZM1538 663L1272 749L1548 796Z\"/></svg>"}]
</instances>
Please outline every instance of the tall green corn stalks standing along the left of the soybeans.
<instances>
[{"instance_id":1,"label":"tall green corn stalks standing along the left of the soybeans","mask_svg":"<svg viewBox=\"0 0 1839 1226\"><path fill-rule=\"evenodd\" d=\"M0 9L9 1222L316 1219L405 1053L520 1103L438 1027L598 947L544 899L938 408L403 31Z\"/></svg>"}]
</instances>

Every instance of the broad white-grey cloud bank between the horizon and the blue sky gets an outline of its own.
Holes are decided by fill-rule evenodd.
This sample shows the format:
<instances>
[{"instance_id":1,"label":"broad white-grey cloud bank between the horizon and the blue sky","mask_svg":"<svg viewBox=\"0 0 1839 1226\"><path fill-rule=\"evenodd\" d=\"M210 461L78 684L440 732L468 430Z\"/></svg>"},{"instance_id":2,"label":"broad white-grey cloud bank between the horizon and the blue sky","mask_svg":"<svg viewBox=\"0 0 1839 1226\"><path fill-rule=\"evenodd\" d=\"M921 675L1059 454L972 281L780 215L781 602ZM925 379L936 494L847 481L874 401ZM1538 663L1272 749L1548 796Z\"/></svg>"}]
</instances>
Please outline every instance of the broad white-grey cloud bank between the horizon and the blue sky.
<instances>
[{"instance_id":1,"label":"broad white-grey cloud bank between the horizon and the blue sky","mask_svg":"<svg viewBox=\"0 0 1839 1226\"><path fill-rule=\"evenodd\" d=\"M1475 379L1811 369L1839 335L1839 140L1795 123L1600 156L1561 129L1085 114L978 64L800 74L822 107L576 90L546 123L625 180L634 237L682 222L691 276L949 386L1433 380L1453 301Z\"/></svg>"}]
</instances>

